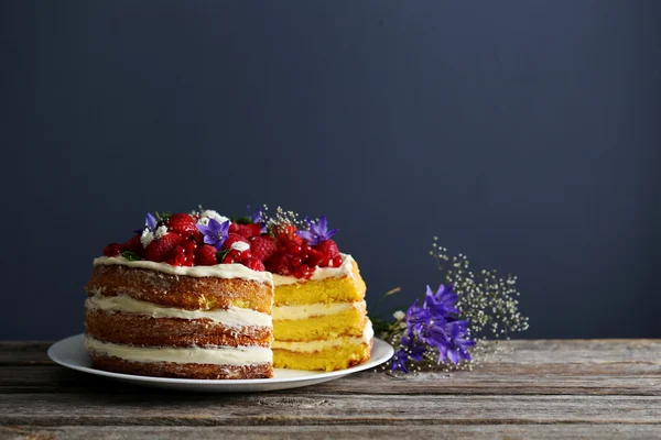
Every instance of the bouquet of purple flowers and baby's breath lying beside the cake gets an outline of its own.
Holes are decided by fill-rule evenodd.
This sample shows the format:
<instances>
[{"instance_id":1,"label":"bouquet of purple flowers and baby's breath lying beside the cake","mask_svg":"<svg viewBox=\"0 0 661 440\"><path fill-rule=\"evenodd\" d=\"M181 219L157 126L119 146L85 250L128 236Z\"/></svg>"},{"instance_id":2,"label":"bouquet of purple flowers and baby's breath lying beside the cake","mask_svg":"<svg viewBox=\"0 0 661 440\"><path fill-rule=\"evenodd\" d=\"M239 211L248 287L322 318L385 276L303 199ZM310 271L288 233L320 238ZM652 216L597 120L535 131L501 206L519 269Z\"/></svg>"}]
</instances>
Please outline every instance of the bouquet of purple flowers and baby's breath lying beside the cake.
<instances>
[{"instance_id":1,"label":"bouquet of purple flowers and baby's breath lying beside the cake","mask_svg":"<svg viewBox=\"0 0 661 440\"><path fill-rule=\"evenodd\" d=\"M518 310L516 276L474 273L465 255L448 256L437 238L430 254L441 273L438 289L434 293L427 286L422 305L416 299L405 312L395 311L394 321L372 319L376 331L395 348L392 371L470 369L470 352L479 341L509 339L510 333L528 329L528 318ZM383 298L398 292L392 289Z\"/></svg>"}]
</instances>

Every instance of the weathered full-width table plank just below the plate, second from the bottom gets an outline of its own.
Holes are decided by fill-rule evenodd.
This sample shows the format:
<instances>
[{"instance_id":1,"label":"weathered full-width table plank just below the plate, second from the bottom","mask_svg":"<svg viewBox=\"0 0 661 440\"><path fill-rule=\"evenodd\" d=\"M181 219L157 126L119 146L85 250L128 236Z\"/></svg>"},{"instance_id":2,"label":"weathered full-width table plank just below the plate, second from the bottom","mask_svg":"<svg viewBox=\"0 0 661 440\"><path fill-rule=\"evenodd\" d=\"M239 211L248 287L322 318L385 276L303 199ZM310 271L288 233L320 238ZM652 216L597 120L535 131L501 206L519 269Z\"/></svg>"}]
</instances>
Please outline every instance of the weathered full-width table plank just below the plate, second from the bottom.
<instances>
[{"instance_id":1,"label":"weathered full-width table plank just below the plate, second from the bottom","mask_svg":"<svg viewBox=\"0 0 661 440\"><path fill-rule=\"evenodd\" d=\"M661 424L655 396L0 395L0 426Z\"/></svg>"}]
</instances>

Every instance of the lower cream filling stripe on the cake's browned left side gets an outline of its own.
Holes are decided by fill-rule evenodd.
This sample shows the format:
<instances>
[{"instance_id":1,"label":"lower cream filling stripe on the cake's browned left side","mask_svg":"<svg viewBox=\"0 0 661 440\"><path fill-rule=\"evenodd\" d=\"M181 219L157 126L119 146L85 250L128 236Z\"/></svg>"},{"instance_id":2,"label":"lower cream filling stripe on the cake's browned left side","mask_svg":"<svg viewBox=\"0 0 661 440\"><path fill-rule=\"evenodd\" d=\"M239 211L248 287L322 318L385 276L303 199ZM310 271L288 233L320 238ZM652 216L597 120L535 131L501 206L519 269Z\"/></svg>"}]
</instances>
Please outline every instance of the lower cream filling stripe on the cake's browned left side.
<instances>
[{"instance_id":1,"label":"lower cream filling stripe on the cake's browned left side","mask_svg":"<svg viewBox=\"0 0 661 440\"><path fill-rule=\"evenodd\" d=\"M262 346L144 348L101 342L86 337L85 348L93 353L142 363L170 362L175 364L243 366L273 362L273 352Z\"/></svg>"}]
</instances>

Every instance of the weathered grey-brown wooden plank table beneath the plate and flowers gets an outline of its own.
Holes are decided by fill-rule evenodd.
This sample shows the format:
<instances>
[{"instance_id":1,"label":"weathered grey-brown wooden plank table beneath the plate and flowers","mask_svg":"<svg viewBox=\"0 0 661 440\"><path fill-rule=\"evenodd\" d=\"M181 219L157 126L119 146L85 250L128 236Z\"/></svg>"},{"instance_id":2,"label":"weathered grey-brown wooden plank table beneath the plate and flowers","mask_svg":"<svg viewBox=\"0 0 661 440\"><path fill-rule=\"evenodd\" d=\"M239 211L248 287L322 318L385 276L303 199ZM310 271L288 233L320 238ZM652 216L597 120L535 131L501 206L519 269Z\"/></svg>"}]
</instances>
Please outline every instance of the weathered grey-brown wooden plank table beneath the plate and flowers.
<instances>
[{"instance_id":1,"label":"weathered grey-brown wooden plank table beneath the plate and flowers","mask_svg":"<svg viewBox=\"0 0 661 440\"><path fill-rule=\"evenodd\" d=\"M141 388L0 343L0 438L661 438L661 340L512 341L473 372L262 394Z\"/></svg>"}]
</instances>

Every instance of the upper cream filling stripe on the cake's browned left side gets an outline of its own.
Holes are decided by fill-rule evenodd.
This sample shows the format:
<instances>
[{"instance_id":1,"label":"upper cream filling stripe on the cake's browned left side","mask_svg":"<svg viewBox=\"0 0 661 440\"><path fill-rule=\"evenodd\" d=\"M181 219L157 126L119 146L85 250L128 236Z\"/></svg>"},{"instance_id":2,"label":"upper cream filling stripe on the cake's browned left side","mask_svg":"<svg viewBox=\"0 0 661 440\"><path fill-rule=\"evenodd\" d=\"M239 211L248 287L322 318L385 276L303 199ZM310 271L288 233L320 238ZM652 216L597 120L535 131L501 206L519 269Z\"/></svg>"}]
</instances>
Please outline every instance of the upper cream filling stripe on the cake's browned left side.
<instances>
[{"instance_id":1,"label":"upper cream filling stripe on the cake's browned left side","mask_svg":"<svg viewBox=\"0 0 661 440\"><path fill-rule=\"evenodd\" d=\"M141 301L128 295L104 296L95 294L85 300L90 310L123 312L150 316L152 318L210 319L226 327L273 327L269 315L252 309L230 306L228 309L186 310L175 307L162 307L153 302Z\"/></svg>"}]
</instances>

